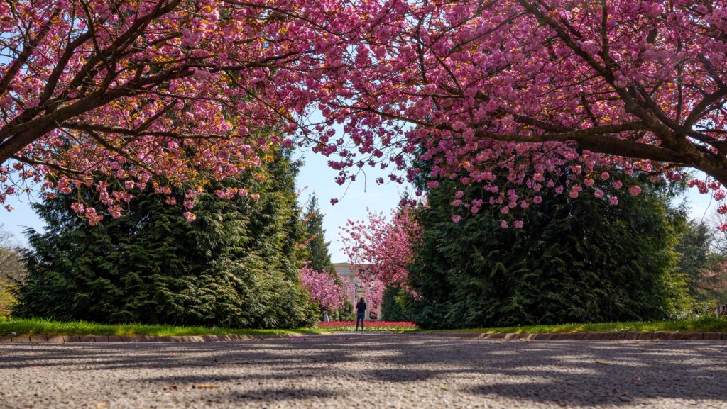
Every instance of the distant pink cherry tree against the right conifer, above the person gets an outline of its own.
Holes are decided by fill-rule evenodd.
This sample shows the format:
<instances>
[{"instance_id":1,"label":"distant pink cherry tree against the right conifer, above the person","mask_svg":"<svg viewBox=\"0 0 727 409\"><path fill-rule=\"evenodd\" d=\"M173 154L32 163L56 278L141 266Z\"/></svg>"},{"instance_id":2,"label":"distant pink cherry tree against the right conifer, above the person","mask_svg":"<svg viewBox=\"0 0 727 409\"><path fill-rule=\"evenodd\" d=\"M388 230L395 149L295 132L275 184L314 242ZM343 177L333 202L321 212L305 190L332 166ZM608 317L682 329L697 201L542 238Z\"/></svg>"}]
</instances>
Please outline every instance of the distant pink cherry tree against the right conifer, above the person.
<instances>
[{"instance_id":1,"label":"distant pink cherry tree against the right conifer, above the person","mask_svg":"<svg viewBox=\"0 0 727 409\"><path fill-rule=\"evenodd\" d=\"M369 211L368 220L348 220L341 230L343 251L356 268L372 308L381 304L387 286L408 286L407 268L414 262L414 247L421 238L414 208L402 206L393 211L391 220Z\"/></svg>"}]
</instances>

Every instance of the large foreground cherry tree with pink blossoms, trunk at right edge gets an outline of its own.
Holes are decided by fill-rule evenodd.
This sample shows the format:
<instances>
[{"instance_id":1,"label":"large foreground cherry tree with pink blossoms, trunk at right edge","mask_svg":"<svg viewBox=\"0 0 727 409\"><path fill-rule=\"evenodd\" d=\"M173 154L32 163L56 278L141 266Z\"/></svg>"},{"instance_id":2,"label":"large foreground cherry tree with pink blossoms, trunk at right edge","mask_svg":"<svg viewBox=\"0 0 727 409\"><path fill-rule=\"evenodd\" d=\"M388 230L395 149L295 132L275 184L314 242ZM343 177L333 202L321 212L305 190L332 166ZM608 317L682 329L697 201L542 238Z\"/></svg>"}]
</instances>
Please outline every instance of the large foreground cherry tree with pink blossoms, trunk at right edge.
<instances>
[{"instance_id":1,"label":"large foreground cherry tree with pink blossoms, trunk at right edge","mask_svg":"<svg viewBox=\"0 0 727 409\"><path fill-rule=\"evenodd\" d=\"M484 185L506 205L511 188L526 203L542 188L617 203L616 190L590 188L604 168L670 179L698 169L708 178L691 185L725 197L720 2L400 1L352 47L348 75L323 78L338 90L324 116L350 144L321 137L318 150L340 154L341 179L366 165L361 153L414 179L411 154L433 161L433 179Z\"/></svg>"}]
</instances>

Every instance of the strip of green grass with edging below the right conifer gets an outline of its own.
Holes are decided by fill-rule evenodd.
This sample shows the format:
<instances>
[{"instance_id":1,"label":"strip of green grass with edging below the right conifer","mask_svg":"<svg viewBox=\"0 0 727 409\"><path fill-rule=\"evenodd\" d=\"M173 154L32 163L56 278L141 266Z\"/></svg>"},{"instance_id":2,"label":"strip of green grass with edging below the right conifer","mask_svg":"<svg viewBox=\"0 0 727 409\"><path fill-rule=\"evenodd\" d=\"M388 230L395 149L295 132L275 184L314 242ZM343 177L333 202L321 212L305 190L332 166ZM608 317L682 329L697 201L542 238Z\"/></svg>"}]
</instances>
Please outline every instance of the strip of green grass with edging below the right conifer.
<instances>
[{"instance_id":1,"label":"strip of green grass with edging below the right conifer","mask_svg":"<svg viewBox=\"0 0 727 409\"><path fill-rule=\"evenodd\" d=\"M528 325L521 327L502 328L471 328L421 331L426 333L462 332L462 333L570 333L570 332L650 332L650 331L694 331L694 332L727 332L727 319L701 317L690 320L675 321L632 321L627 323L586 323L562 325Z\"/></svg>"}]
</instances>

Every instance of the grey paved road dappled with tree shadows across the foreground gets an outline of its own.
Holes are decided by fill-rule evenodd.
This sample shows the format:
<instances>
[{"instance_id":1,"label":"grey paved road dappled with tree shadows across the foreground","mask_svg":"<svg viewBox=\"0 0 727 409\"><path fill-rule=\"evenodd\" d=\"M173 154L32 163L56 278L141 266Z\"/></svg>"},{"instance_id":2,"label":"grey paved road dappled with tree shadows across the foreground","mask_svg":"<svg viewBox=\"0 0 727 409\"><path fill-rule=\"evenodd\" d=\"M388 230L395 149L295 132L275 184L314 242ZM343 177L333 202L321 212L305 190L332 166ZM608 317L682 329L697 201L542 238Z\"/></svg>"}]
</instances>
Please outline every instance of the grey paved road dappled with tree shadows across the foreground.
<instances>
[{"instance_id":1,"label":"grey paved road dappled with tree shadows across the foreground","mask_svg":"<svg viewBox=\"0 0 727 409\"><path fill-rule=\"evenodd\" d=\"M723 341L0 344L0 408L727 408Z\"/></svg>"}]
</instances>

